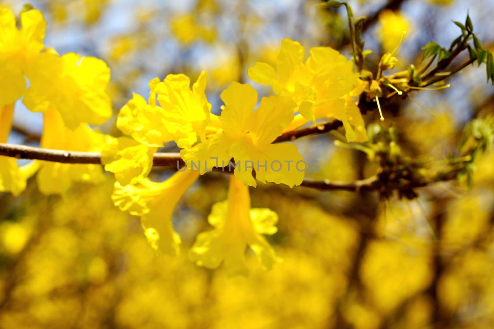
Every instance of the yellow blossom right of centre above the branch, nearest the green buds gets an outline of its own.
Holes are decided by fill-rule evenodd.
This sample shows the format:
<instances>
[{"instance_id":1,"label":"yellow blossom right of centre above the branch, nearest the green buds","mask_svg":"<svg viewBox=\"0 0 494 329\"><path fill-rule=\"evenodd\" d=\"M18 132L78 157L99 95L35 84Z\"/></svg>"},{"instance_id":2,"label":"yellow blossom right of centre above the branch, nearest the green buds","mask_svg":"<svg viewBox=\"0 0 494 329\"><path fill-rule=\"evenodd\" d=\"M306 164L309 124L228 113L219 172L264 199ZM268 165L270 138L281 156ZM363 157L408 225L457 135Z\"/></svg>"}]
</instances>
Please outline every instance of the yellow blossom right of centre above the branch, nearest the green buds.
<instances>
[{"instance_id":1,"label":"yellow blossom right of centre above the branch, nearest the green buds","mask_svg":"<svg viewBox=\"0 0 494 329\"><path fill-rule=\"evenodd\" d=\"M249 68L248 76L255 82L271 84L277 95L286 95L297 103L299 112L290 129L319 118L334 117L343 122L349 142L367 141L360 111L351 114L347 96L358 96L363 89L359 74L353 72L353 62L330 47L314 47L305 63L304 48L289 38L281 43L276 58L276 70L269 64L257 62ZM303 117L303 119L301 118Z\"/></svg>"}]
</instances>

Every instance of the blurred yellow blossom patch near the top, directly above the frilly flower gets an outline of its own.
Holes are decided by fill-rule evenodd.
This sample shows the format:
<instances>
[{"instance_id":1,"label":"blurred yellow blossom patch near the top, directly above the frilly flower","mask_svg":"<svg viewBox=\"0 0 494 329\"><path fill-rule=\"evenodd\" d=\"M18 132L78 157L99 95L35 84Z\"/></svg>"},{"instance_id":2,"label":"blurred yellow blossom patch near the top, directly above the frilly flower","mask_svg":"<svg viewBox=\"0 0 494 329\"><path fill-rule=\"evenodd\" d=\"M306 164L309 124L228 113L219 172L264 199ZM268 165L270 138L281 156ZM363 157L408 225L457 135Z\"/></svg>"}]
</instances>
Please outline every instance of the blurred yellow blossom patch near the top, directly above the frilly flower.
<instances>
[{"instance_id":1,"label":"blurred yellow blossom patch near the top, directly above the frilly flower","mask_svg":"<svg viewBox=\"0 0 494 329\"><path fill-rule=\"evenodd\" d=\"M180 14L171 20L171 31L185 45L196 40L211 42L216 38L216 31L196 22L194 14Z\"/></svg>"}]
</instances>

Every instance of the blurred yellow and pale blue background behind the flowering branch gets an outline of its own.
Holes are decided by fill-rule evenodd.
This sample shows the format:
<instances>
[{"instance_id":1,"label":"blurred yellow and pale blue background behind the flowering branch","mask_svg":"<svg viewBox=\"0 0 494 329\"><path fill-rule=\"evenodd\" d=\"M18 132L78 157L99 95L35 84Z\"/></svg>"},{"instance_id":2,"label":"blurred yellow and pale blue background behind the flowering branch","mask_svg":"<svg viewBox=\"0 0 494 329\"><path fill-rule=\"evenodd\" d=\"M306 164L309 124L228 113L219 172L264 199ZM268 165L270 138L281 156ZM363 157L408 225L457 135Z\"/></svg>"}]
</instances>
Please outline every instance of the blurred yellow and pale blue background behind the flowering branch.
<instances>
[{"instance_id":1,"label":"blurred yellow and pale blue background behind the flowering branch","mask_svg":"<svg viewBox=\"0 0 494 329\"><path fill-rule=\"evenodd\" d=\"M408 33L398 69L418 66L421 47L447 46L464 22L494 51L492 0L349 0L369 18L364 39L369 69ZM18 13L24 1L0 1ZM232 81L249 82L247 68L273 63L281 40L351 52L346 13L311 0L33 0L48 22L45 45L60 54L96 56L112 70L115 114L132 92L168 73L195 81L207 72L207 96ZM383 15L389 9L395 15ZM390 49L391 48L391 49ZM461 61L467 59L463 54ZM430 114L405 101L384 109L409 154L443 159L456 149L465 123L494 112L485 68L467 67L452 87L414 95ZM101 129L119 135L114 117ZM375 111L366 123L378 121ZM9 143L39 146L41 113L16 104ZM312 178L351 181L375 174L366 154L336 147L331 134L295 144L317 160ZM166 145L164 151L176 151ZM248 254L248 278L228 278L195 266L187 250L209 229L212 204L226 199L227 177L208 173L174 212L182 237L178 257L156 257L137 217L110 199L113 175L67 195L42 195L31 179L21 196L0 193L0 328L494 328L494 155L476 163L471 189L454 182L417 190L418 198L379 200L376 192L316 191L258 185L253 207L280 217L269 237L284 261L263 271ZM172 169L154 169L163 181Z\"/></svg>"}]
</instances>

